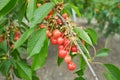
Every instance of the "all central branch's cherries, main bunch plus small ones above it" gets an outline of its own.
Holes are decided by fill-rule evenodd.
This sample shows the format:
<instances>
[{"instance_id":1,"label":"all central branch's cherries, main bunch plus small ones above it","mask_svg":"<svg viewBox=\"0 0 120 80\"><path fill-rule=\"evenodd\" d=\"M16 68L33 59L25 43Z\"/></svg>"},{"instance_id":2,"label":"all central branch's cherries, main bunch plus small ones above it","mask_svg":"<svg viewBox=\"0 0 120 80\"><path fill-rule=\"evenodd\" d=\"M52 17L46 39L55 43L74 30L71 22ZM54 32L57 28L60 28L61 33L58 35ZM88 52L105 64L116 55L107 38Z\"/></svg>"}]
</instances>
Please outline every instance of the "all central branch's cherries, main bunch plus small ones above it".
<instances>
[{"instance_id":1,"label":"all central branch's cherries, main bunch plus small ones above it","mask_svg":"<svg viewBox=\"0 0 120 80\"><path fill-rule=\"evenodd\" d=\"M48 20L52 16L52 14L53 10L48 13L48 15L45 17L45 20ZM62 14L62 17L67 20L67 13ZM60 18L55 19L54 22L60 27L62 27L63 25ZM44 27L46 27L44 23L41 23L39 25L39 28ZM64 59L64 61L67 63L68 70L72 71L76 69L76 64L72 62L72 57L70 53L77 53L78 49L71 38L65 35L65 31L66 30L61 30L59 27L55 26L53 29L47 27L46 36L50 39L52 45L58 45L58 57Z\"/></svg>"}]
</instances>

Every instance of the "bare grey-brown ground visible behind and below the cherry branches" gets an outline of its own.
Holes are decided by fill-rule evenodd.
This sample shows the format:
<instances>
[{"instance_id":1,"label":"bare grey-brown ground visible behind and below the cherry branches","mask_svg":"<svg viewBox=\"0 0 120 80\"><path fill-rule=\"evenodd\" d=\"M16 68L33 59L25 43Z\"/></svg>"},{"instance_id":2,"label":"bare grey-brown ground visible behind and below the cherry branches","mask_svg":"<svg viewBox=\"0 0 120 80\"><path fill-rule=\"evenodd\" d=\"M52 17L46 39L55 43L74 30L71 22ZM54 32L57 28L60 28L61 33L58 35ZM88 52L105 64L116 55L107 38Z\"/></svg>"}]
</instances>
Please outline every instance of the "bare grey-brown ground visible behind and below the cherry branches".
<instances>
[{"instance_id":1,"label":"bare grey-brown ground visible behind and below the cherry branches","mask_svg":"<svg viewBox=\"0 0 120 80\"><path fill-rule=\"evenodd\" d=\"M104 47L105 39L103 37L99 38L97 49ZM112 63L120 67L120 36L116 35L109 39L108 48L110 48L110 54L108 57L97 58L95 61L100 61L103 63ZM90 49L90 53L93 54L93 50ZM74 62L79 65L79 59L76 57ZM92 64L99 80L105 80L102 76L104 73L104 68L99 64ZM37 71L40 80L74 80L75 74L67 70L66 63L62 63L59 67L57 66L57 46L50 45L48 51L48 57L43 68ZM94 80L89 69L85 72L86 80ZM0 80L4 80L0 76ZM15 79L18 80L18 79Z\"/></svg>"}]
</instances>

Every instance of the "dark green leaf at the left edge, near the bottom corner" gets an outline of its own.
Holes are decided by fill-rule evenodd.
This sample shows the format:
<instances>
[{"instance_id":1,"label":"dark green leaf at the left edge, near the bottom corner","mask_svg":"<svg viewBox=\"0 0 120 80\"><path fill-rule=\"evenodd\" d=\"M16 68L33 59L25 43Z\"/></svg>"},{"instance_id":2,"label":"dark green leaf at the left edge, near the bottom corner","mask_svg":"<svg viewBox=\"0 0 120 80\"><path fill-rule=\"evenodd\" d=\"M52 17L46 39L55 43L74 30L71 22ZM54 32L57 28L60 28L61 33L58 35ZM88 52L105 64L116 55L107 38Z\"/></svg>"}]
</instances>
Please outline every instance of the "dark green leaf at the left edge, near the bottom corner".
<instances>
[{"instance_id":1,"label":"dark green leaf at the left edge, near the bottom corner","mask_svg":"<svg viewBox=\"0 0 120 80\"><path fill-rule=\"evenodd\" d=\"M11 61L10 60L5 60L0 63L0 71L3 75L8 76L9 70L11 67Z\"/></svg>"}]
</instances>

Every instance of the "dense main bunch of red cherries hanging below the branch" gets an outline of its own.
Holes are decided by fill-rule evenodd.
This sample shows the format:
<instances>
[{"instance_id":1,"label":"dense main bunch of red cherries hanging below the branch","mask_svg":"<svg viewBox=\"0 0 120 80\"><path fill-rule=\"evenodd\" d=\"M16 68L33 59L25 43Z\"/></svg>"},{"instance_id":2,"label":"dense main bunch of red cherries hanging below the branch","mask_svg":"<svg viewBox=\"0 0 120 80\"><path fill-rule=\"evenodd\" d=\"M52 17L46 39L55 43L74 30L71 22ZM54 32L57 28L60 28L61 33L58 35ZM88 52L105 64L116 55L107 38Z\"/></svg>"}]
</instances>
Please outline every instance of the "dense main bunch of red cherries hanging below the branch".
<instances>
[{"instance_id":1,"label":"dense main bunch of red cherries hanging below the branch","mask_svg":"<svg viewBox=\"0 0 120 80\"><path fill-rule=\"evenodd\" d=\"M64 59L67 63L68 70L74 70L76 65L72 62L70 52L76 53L78 51L77 47L58 29L55 29L52 32L47 30L46 35L50 38L53 45L58 45L58 57Z\"/></svg>"}]
</instances>

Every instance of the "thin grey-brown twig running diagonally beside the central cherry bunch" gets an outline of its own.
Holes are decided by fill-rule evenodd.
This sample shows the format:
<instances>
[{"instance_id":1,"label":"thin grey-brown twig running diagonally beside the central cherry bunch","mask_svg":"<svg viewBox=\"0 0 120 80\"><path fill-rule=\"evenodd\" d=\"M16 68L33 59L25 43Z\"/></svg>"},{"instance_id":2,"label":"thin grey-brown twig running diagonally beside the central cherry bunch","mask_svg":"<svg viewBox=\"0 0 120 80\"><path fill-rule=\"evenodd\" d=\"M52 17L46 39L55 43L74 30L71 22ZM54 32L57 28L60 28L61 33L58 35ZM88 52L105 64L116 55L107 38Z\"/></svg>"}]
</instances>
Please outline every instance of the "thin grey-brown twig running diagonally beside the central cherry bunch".
<instances>
[{"instance_id":1,"label":"thin grey-brown twig running diagonally beside the central cherry bunch","mask_svg":"<svg viewBox=\"0 0 120 80\"><path fill-rule=\"evenodd\" d=\"M68 24L66 23L65 19L64 19L59 13L57 13L57 16L62 20L62 22L63 22L64 25L68 26ZM68 26L68 27L69 27L69 26ZM71 30L71 29L70 29L70 30ZM71 36L73 36L72 31L70 31L70 34L71 34ZM74 40L74 43L75 43L75 45L78 47L79 52L82 54L82 56L83 56L85 62L87 63L87 65L88 65L91 73L93 74L95 80L98 80L98 77L97 77L96 73L94 72L92 66L91 66L90 63L88 62L88 59L87 59L87 57L85 56L85 54L84 54L84 52L82 51L82 49L80 48L79 44L77 43L76 40Z\"/></svg>"}]
</instances>

